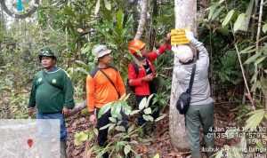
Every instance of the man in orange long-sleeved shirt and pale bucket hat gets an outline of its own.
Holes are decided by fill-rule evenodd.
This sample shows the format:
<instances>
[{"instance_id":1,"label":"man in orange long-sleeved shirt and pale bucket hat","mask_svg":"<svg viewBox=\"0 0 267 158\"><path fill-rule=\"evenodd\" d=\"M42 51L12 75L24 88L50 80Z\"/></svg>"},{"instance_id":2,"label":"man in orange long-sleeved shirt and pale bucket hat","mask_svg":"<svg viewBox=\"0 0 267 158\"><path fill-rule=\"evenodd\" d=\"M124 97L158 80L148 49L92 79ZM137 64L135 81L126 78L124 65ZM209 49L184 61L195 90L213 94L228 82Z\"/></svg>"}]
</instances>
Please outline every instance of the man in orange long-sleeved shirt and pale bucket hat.
<instances>
[{"instance_id":1,"label":"man in orange long-sleeved shirt and pale bucket hat","mask_svg":"<svg viewBox=\"0 0 267 158\"><path fill-rule=\"evenodd\" d=\"M111 50L105 45L98 45L94 49L94 54L98 65L90 75L87 75L87 107L90 114L90 122L95 124L97 121L96 128L99 130L98 145L105 147L108 140L108 128L103 130L100 130L100 128L109 124L110 110L98 119L96 119L96 115L105 104L117 101L120 96L125 94L125 86L117 68L109 66L112 61ZM122 125L127 130L125 115L123 115L122 121ZM109 154L105 153L102 156L108 158Z\"/></svg>"}]
</instances>

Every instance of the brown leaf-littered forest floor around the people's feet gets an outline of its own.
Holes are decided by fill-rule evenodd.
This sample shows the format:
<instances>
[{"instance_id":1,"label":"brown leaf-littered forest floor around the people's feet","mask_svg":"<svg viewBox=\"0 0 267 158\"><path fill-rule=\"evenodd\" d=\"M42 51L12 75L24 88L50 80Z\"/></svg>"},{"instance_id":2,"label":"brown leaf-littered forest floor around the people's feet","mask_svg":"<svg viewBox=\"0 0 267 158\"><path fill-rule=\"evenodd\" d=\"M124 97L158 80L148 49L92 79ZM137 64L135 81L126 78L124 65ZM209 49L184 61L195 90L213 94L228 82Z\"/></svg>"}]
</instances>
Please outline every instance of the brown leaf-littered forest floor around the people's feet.
<instances>
[{"instance_id":1,"label":"brown leaf-littered forest floor around the people's feet","mask_svg":"<svg viewBox=\"0 0 267 158\"><path fill-rule=\"evenodd\" d=\"M234 105L218 104L214 108L214 127L222 132L215 137L215 146L218 148L224 145L236 145L239 142L239 138L223 138L223 133L228 128L238 127L239 122L236 120L237 112L232 112L231 109L235 108ZM133 119L130 123L134 122ZM68 154L69 158L82 158L85 154L85 143L80 146L74 145L75 133L92 128L89 122L88 116L74 115L67 120L68 123ZM189 153L180 153L171 144L170 136L168 133L169 119L166 116L163 120L157 122L156 129L154 130L152 138L145 138L145 141L134 146L134 151L142 155L142 158L153 157L155 154L159 154L162 158L185 158L190 157ZM223 130L224 131L223 131ZM109 135L109 138L111 136ZM140 141L139 141L140 142ZM89 146L96 144L96 138L92 142L89 142ZM204 145L204 141L201 140L201 145ZM94 156L92 156L94 157ZM204 154L204 157L205 154Z\"/></svg>"}]
</instances>

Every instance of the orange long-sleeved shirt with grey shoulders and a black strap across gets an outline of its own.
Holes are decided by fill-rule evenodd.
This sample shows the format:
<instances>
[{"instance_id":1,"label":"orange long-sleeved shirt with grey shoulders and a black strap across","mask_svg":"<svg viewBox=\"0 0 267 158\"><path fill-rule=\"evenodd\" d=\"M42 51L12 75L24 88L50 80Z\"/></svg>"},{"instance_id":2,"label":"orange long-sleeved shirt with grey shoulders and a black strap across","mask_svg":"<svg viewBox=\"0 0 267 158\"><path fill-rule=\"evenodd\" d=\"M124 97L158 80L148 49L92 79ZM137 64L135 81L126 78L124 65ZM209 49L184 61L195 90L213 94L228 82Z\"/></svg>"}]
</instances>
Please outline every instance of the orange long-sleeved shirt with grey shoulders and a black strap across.
<instances>
[{"instance_id":1,"label":"orange long-sleeved shirt with grey shoulders and a black strap across","mask_svg":"<svg viewBox=\"0 0 267 158\"><path fill-rule=\"evenodd\" d=\"M109 76L115 84L118 93L122 96L125 93L125 85L117 69L108 67L102 69L102 71ZM111 101L117 101L117 91L109 82L109 79L100 70L95 68L86 78L87 107L89 112L93 112L95 107L101 108Z\"/></svg>"}]
</instances>

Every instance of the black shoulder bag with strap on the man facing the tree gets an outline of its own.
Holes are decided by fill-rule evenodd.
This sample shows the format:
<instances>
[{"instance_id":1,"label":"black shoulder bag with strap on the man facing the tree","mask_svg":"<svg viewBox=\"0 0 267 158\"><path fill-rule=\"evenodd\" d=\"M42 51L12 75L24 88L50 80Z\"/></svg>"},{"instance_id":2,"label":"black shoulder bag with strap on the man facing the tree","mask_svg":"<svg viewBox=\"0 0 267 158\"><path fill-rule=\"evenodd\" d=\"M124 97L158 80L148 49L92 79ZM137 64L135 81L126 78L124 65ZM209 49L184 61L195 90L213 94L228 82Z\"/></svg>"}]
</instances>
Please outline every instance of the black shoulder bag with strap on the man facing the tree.
<instances>
[{"instance_id":1,"label":"black shoulder bag with strap on the man facing the tree","mask_svg":"<svg viewBox=\"0 0 267 158\"><path fill-rule=\"evenodd\" d=\"M185 92L182 92L176 103L176 108L181 115L185 115L190 106L190 93L194 82L195 72L196 72L196 64L193 65L192 73L190 76L189 88Z\"/></svg>"}]
</instances>

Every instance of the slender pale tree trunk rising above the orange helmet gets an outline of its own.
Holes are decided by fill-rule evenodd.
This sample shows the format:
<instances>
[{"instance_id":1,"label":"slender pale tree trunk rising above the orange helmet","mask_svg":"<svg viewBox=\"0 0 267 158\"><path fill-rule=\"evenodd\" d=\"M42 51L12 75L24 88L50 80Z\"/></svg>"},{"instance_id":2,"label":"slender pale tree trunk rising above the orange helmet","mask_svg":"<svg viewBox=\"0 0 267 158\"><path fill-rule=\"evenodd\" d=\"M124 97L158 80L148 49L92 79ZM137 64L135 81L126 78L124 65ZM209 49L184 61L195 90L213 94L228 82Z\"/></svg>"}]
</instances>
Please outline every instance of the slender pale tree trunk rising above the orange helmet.
<instances>
[{"instance_id":1,"label":"slender pale tree trunk rising above the orange helmet","mask_svg":"<svg viewBox=\"0 0 267 158\"><path fill-rule=\"evenodd\" d=\"M146 20L147 20L147 14L148 14L148 0L142 0L141 2L141 13L140 13L140 20L139 25L137 28L136 35L134 39L140 39L142 36L143 29L145 28Z\"/></svg>"}]
</instances>

